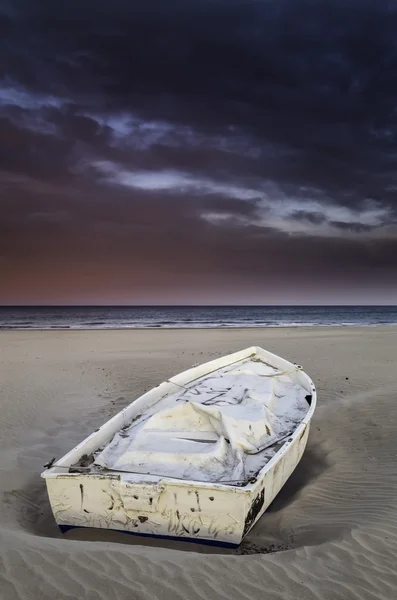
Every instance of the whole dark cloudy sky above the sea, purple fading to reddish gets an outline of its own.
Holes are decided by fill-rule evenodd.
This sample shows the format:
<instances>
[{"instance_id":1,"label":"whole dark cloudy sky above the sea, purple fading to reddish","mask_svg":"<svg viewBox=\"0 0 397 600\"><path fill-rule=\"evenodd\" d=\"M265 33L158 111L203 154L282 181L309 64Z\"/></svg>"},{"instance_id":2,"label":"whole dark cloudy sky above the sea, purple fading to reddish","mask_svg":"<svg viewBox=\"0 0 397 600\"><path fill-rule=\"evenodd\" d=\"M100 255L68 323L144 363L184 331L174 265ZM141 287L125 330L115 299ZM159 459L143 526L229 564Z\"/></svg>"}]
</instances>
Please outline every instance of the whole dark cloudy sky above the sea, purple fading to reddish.
<instances>
[{"instance_id":1,"label":"whole dark cloudy sky above the sea, purple fading to reddish","mask_svg":"<svg viewBox=\"0 0 397 600\"><path fill-rule=\"evenodd\" d=\"M0 303L397 303L397 3L2 0Z\"/></svg>"}]
</instances>

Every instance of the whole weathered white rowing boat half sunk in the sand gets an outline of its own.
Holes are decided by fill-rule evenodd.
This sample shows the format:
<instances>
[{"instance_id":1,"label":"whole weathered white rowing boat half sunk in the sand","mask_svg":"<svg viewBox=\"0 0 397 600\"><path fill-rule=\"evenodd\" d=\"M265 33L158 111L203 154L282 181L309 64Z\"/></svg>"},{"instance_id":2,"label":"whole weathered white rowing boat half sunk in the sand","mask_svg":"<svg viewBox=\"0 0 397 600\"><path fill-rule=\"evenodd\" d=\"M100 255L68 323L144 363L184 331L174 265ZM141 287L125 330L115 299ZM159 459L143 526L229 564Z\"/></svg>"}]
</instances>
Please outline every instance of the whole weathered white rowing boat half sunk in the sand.
<instances>
[{"instance_id":1,"label":"whole weathered white rowing boat half sunk in the sand","mask_svg":"<svg viewBox=\"0 0 397 600\"><path fill-rule=\"evenodd\" d=\"M316 390L262 348L195 366L47 465L57 524L238 545L297 466Z\"/></svg>"}]
</instances>

